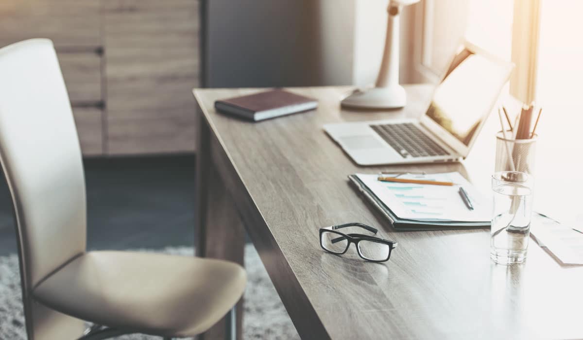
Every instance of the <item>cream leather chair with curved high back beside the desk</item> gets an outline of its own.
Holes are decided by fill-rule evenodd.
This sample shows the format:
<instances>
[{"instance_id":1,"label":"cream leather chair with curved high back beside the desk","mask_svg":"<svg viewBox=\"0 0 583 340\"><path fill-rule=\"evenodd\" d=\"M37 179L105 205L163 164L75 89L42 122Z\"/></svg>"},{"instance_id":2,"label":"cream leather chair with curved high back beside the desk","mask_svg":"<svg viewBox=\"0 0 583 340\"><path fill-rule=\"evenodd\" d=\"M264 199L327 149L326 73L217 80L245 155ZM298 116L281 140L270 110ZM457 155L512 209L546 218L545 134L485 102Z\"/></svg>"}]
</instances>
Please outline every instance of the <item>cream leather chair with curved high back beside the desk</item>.
<instances>
[{"instance_id":1,"label":"cream leather chair with curved high back beside the desk","mask_svg":"<svg viewBox=\"0 0 583 340\"><path fill-rule=\"evenodd\" d=\"M16 218L30 340L191 337L223 316L233 338L233 307L246 281L239 265L86 251L79 139L50 40L0 48L0 161ZM85 335L82 320L94 324Z\"/></svg>"}]
</instances>

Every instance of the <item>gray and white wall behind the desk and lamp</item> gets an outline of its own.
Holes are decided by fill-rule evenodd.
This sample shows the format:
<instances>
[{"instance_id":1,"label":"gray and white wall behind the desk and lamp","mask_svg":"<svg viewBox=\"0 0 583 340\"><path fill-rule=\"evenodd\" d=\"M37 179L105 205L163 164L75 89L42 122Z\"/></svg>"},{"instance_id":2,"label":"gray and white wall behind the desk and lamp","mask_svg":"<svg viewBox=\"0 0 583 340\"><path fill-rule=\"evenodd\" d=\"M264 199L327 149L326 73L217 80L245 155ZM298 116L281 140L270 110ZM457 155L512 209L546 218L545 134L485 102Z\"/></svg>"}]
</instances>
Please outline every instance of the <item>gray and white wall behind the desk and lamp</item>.
<instances>
[{"instance_id":1,"label":"gray and white wall behind the desk and lamp","mask_svg":"<svg viewBox=\"0 0 583 340\"><path fill-rule=\"evenodd\" d=\"M374 83L386 11L387 0L206 0L205 86ZM407 8L401 19L402 81L410 13Z\"/></svg>"}]
</instances>

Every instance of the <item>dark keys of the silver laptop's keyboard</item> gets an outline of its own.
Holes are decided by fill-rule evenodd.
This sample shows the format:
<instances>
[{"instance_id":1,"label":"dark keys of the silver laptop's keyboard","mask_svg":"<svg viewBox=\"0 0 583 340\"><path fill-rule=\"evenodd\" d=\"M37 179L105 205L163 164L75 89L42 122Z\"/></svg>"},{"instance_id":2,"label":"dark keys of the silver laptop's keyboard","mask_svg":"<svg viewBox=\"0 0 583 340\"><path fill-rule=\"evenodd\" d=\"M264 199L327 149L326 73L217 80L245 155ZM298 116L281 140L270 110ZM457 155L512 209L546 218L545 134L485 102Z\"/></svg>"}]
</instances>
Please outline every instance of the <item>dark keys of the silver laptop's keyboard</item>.
<instances>
[{"instance_id":1,"label":"dark keys of the silver laptop's keyboard","mask_svg":"<svg viewBox=\"0 0 583 340\"><path fill-rule=\"evenodd\" d=\"M370 127L403 158L449 155L415 124L371 124Z\"/></svg>"}]
</instances>

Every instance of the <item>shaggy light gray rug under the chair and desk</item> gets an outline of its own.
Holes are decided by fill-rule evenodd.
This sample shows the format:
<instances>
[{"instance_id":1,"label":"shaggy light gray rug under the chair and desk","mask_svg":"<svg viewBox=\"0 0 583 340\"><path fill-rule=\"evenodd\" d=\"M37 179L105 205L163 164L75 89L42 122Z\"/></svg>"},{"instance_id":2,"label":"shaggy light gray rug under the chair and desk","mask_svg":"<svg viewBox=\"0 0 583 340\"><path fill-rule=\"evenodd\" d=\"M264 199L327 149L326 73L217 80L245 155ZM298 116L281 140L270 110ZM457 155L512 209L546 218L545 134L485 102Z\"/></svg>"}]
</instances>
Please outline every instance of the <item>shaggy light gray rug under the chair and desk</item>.
<instances>
[{"instance_id":1,"label":"shaggy light gray rug under the chair and desk","mask_svg":"<svg viewBox=\"0 0 583 340\"><path fill-rule=\"evenodd\" d=\"M192 255L192 248L165 248L163 253ZM252 245L245 247L245 269L248 282L245 289L245 339L299 339L293 324L259 255ZM24 316L20 292L20 274L16 254L0 257L0 339L25 340ZM160 339L147 335L126 335L117 339Z\"/></svg>"}]
</instances>

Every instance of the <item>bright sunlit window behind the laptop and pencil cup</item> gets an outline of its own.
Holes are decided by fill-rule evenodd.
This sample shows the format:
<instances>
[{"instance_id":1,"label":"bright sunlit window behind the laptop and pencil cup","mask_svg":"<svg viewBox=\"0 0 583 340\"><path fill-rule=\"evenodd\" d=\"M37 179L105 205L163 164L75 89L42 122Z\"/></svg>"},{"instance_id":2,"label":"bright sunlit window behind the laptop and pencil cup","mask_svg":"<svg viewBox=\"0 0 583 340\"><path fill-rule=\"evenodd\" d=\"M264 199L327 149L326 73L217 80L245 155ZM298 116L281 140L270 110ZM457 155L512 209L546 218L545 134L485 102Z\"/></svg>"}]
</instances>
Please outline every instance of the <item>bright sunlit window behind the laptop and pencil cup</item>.
<instances>
[{"instance_id":1,"label":"bright sunlit window behind the laptop and pencil cup","mask_svg":"<svg viewBox=\"0 0 583 340\"><path fill-rule=\"evenodd\" d=\"M462 36L516 64L510 94L543 107L537 127L535 210L583 223L583 1L422 0L414 82L436 81ZM565 217L566 216L566 217Z\"/></svg>"}]
</instances>

